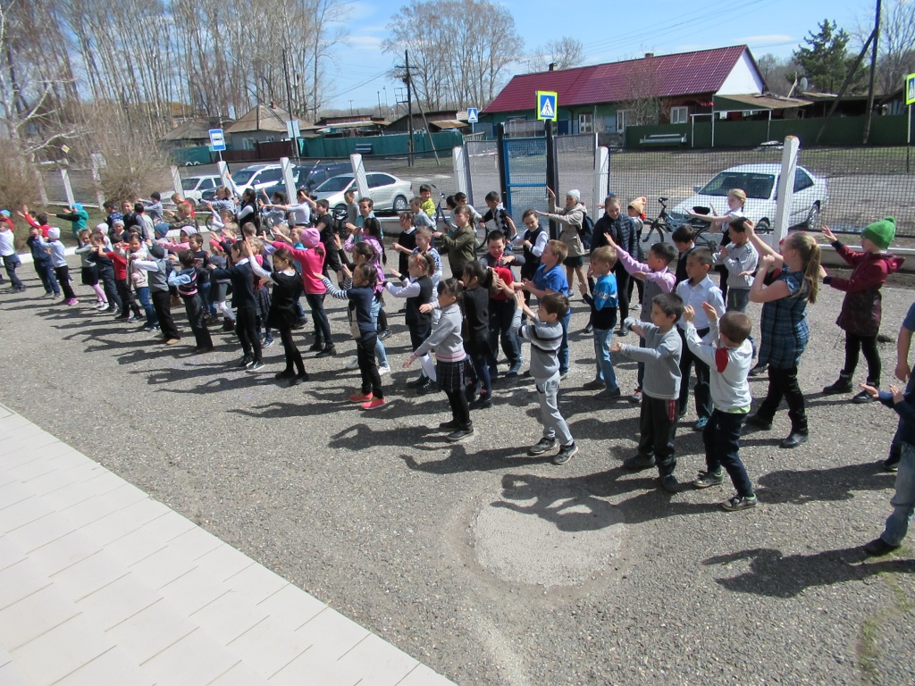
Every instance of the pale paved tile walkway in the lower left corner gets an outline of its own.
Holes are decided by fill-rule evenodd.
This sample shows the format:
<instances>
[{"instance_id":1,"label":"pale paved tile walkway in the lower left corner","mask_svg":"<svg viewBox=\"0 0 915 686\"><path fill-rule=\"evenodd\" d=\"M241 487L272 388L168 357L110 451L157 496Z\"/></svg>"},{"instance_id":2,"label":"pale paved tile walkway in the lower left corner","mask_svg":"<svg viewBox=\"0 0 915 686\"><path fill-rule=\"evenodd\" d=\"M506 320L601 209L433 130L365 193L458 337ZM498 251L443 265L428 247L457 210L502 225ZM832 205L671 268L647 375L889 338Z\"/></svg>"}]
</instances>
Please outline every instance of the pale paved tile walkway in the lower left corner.
<instances>
[{"instance_id":1,"label":"pale paved tile walkway in the lower left corner","mask_svg":"<svg viewBox=\"0 0 915 686\"><path fill-rule=\"evenodd\" d=\"M0 684L450 683L0 405Z\"/></svg>"}]
</instances>

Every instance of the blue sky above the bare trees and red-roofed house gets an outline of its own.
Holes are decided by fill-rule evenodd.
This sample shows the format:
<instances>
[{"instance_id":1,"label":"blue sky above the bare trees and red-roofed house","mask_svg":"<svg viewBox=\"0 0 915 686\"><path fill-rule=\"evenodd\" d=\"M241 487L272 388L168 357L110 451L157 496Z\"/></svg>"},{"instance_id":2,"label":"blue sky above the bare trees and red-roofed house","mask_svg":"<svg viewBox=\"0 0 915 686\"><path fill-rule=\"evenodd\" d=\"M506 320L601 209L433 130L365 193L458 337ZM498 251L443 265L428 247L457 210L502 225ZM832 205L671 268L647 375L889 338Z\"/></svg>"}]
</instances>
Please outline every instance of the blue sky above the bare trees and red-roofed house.
<instances>
[{"instance_id":1,"label":"blue sky above the bare trees and red-roofed house","mask_svg":"<svg viewBox=\"0 0 915 686\"><path fill-rule=\"evenodd\" d=\"M394 90L403 84L385 76L399 60L382 53L386 26L403 2L353 0L350 36L336 49L335 62L325 73L332 108L376 113L385 98L393 107ZM645 52L667 54L727 45L747 44L754 57L770 52L787 57L824 18L851 32L873 5L853 0L646 0L616 3L579 0L561 15L552 0L503 0L515 26L533 51L546 41L570 36L585 45L585 64L640 57ZM565 30L558 28L565 22ZM554 29L551 33L547 28ZM522 71L518 66L511 73ZM350 102L352 101L352 102Z\"/></svg>"}]
</instances>

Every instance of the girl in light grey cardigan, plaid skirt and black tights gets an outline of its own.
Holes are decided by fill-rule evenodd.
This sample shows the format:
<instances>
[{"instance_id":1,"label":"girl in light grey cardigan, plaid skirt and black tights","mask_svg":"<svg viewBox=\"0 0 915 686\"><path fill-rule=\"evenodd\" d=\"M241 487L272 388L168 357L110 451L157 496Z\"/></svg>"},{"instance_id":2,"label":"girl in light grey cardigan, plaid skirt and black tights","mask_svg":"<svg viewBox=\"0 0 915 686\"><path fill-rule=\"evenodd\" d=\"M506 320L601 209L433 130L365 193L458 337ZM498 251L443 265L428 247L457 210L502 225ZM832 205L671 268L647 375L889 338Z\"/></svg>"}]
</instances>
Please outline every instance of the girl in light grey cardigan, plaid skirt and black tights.
<instances>
[{"instance_id":1,"label":"girl in light grey cardigan, plaid skirt and black tights","mask_svg":"<svg viewBox=\"0 0 915 686\"><path fill-rule=\"evenodd\" d=\"M448 404L451 406L451 421L438 424L441 431L450 432L447 440L457 442L473 435L473 423L470 421L470 407L465 394L467 381L464 377L467 353L464 352L464 338L461 329L464 316L460 311L460 298L463 288L458 279L450 278L439 282L438 308L441 315L429 338L413 351L406 359L404 367L409 367L416 359L436 350L436 383L445 391ZM431 311L432 305L420 305L421 309Z\"/></svg>"}]
</instances>

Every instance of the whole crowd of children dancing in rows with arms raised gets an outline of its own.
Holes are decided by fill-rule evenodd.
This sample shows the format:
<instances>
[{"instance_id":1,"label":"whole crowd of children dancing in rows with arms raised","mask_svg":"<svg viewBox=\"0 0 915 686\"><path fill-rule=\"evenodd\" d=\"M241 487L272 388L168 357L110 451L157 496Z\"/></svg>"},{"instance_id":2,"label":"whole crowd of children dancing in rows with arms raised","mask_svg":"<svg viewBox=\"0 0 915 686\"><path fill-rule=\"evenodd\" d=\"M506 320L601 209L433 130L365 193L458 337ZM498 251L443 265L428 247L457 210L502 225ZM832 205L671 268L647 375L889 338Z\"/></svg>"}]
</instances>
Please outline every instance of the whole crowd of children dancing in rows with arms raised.
<instances>
[{"instance_id":1,"label":"whole crowd of children dancing in rows with arms raised","mask_svg":"<svg viewBox=\"0 0 915 686\"><path fill-rule=\"evenodd\" d=\"M291 386L308 380L294 335L306 318L301 296L305 295L314 321L310 349L318 357L337 354L324 298L346 300L350 334L356 343L356 360L350 368L358 367L361 375L361 388L349 400L365 410L387 403L382 375L390 367L382 339L389 328L383 294L402 298L413 349L404 366L419 360L421 367L419 377L407 387L417 394L445 392L452 418L440 428L449 441L473 434L471 411L492 405L500 349L509 364L506 376L516 376L522 370L522 341L526 341L530 344L529 375L544 424L542 438L529 452L538 456L555 450L554 463L564 464L578 451L557 404L560 383L569 370L571 285L577 277L578 291L590 309L587 330L593 335L596 357L595 378L585 387L599 391L597 400L613 401L622 395L614 357L622 355L638 363L638 385L630 400L640 403L640 441L637 454L624 466L632 470L656 467L662 488L672 492L678 488L675 433L688 411L694 372L697 419L693 428L703 433L706 468L693 484L695 488L721 484L723 470L727 471L737 491L723 503L729 510L756 504L738 455L745 423L769 430L785 398L791 433L780 441L780 447L793 448L807 440L809 427L797 369L809 338L806 305L816 301L821 282L846 293L838 320L846 332L845 365L839 381L823 392L854 391L851 379L863 350L867 384L854 402L879 398L894 404L903 424L915 418L907 409L910 392L893 390L891 396L881 396L877 391L879 288L901 263L886 252L895 233L891 219L867 227L862 234L863 252L848 249L823 228L823 235L853 267L845 279L825 273L820 246L810 233L792 232L779 250L770 247L743 216L746 196L739 189L728 196L727 215L705 217L727 230L727 242L717 252L696 247L694 230L683 226L673 233L673 245L651 245L642 261L636 248L635 220L643 213L643 200L633 200L623 214L619 198L611 196L588 241L586 275L586 249L580 232L587 209L576 190L568 192L564 208L554 204L550 213L524 212L523 232L515 230L498 194L487 197L485 217L466 198L457 203L449 198L454 224L436 230L436 222L426 212L430 194L429 188L423 188L421 197L411 203L411 211L400 217L401 233L393 243L399 258L397 269L386 266L381 225L372 213L371 199L363 198L357 206L354 198L348 198L353 206L345 222L349 236L341 241L339 231L327 219L327 202L313 201L304 194L305 198L299 198L301 205L312 211L283 206L288 222L274 225L269 232L245 221L252 219L250 211L242 216L222 210L221 220L214 222L220 230L218 236L210 237L210 251L196 225L180 227L178 241L168 241L156 238L155 233L149 235L143 212L135 212L140 219L125 230L124 216L112 211L95 230L78 231L81 281L92 288L98 308L115 313L118 319L137 321L142 306L145 327L161 329L168 345L180 340L170 307L183 302L195 337L195 354L213 349L208 325L221 316L223 328L237 334L242 348L239 367L245 370L264 367L263 348L271 345L277 331L285 349L285 368L276 378L288 380ZM183 211L187 215L188 210ZM46 292L53 297L62 293L64 303L75 304L59 229L48 225L45 214L33 218L27 208L18 214L30 225L28 245ZM549 240L538 216L559 221L563 227L559 240ZM297 223L299 220L306 223ZM487 250L479 259L474 228L478 222L487 227ZM12 228L9 213L4 211L0 255L18 290L22 285L16 277L15 251L13 258L7 254L13 244ZM450 278L444 277L443 255ZM725 270L721 287L709 276L719 266ZM519 273L513 271L516 268ZM334 272L337 284L328 278ZM620 285L626 279L618 280L622 274L642 286L638 321L624 305L628 299L621 292L626 284ZM537 299L536 311L532 298ZM747 316L750 302L762 305L757 338L751 335ZM531 323L524 322L525 316ZM638 344L622 342L629 332L638 336ZM759 361L753 367L755 358ZM750 414L748 376L762 371L769 375L768 391L757 412ZM915 457L906 460L907 439L913 431L908 424L900 428L902 447L897 454L906 465L915 462ZM915 453L915 447L911 451ZM915 469L915 464L908 468ZM895 545L893 541L898 539L898 533L893 533L887 542Z\"/></svg>"}]
</instances>

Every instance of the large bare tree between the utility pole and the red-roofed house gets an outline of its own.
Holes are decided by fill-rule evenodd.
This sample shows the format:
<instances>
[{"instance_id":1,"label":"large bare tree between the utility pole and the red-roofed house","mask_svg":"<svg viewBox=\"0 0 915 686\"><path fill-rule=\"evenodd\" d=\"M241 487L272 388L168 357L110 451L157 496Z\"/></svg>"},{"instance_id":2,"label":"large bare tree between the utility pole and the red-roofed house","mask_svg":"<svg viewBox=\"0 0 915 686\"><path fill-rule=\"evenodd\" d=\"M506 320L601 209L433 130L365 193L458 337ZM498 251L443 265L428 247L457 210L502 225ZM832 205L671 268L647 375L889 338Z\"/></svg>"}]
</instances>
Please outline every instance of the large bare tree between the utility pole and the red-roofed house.
<instances>
[{"instance_id":1,"label":"large bare tree between the utility pole and the red-roofed house","mask_svg":"<svg viewBox=\"0 0 915 686\"><path fill-rule=\"evenodd\" d=\"M410 52L416 97L430 109L483 107L522 51L514 18L490 0L413 0L392 17L382 49Z\"/></svg>"}]
</instances>

